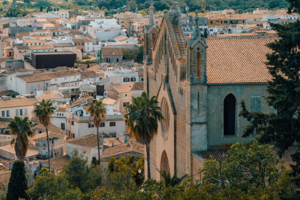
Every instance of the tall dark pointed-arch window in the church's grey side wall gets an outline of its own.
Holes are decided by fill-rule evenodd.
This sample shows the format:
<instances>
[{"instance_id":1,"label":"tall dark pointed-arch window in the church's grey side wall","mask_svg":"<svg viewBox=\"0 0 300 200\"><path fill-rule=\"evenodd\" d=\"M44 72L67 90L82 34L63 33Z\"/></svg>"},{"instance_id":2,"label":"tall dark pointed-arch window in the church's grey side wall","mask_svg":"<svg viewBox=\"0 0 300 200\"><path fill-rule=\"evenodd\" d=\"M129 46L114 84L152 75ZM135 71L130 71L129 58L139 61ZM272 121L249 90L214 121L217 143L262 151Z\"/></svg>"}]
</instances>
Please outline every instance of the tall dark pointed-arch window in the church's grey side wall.
<instances>
[{"instance_id":1,"label":"tall dark pointed-arch window in the church's grey side wall","mask_svg":"<svg viewBox=\"0 0 300 200\"><path fill-rule=\"evenodd\" d=\"M224 99L224 135L235 135L235 102L233 94Z\"/></svg>"}]
</instances>

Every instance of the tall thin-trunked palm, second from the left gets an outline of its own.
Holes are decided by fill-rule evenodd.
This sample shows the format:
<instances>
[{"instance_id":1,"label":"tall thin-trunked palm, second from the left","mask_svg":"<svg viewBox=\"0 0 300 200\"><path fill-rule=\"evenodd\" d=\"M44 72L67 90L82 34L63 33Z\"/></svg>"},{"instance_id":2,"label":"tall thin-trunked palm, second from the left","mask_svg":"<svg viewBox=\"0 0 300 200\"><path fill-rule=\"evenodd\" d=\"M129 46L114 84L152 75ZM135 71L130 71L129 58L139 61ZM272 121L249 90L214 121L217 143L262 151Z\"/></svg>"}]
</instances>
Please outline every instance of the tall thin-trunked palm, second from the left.
<instances>
[{"instance_id":1,"label":"tall thin-trunked palm, second from the left","mask_svg":"<svg viewBox=\"0 0 300 200\"><path fill-rule=\"evenodd\" d=\"M35 105L33 109L34 116L38 119L38 121L46 128L47 135L47 146L48 146L48 156L49 156L49 172L50 172L50 146L49 146L49 135L48 135L48 125L50 124L51 114L55 111L55 107L52 106L50 100L45 101L43 99L40 104Z\"/></svg>"}]
</instances>

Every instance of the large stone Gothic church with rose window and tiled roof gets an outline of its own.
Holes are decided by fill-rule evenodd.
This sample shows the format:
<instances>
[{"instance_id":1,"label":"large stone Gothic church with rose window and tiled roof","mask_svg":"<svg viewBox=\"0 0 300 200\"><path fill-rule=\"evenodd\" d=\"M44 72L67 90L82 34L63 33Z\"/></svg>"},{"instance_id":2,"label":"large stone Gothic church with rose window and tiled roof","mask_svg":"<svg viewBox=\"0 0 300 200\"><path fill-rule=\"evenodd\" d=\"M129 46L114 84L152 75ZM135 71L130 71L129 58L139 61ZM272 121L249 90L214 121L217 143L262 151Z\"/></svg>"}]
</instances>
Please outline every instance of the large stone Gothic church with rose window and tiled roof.
<instances>
[{"instance_id":1,"label":"large stone Gothic church with rose window and tiled roof","mask_svg":"<svg viewBox=\"0 0 300 200\"><path fill-rule=\"evenodd\" d=\"M151 2L144 28L144 89L158 96L165 120L150 144L151 176L158 180L163 170L173 175L178 169L178 175L200 178L203 153L249 141L241 137L248 124L238 116L242 99L249 110L274 112L263 96L271 77L265 66L271 50L265 44L275 38L205 39L199 28L184 37L176 1L160 27L153 10ZM194 27L198 20L196 15Z\"/></svg>"}]
</instances>

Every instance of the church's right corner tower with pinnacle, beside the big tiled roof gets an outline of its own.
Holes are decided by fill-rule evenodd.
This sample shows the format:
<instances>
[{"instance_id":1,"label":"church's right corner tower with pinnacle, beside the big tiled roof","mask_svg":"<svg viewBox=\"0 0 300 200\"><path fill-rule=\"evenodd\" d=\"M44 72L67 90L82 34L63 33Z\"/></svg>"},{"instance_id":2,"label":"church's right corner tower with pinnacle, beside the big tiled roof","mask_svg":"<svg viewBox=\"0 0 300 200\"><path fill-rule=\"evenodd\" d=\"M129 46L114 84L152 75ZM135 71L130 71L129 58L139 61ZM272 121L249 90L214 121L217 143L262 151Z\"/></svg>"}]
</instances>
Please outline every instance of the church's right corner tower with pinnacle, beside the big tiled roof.
<instances>
[{"instance_id":1,"label":"church's right corner tower with pinnacle, beside the big tiled roof","mask_svg":"<svg viewBox=\"0 0 300 200\"><path fill-rule=\"evenodd\" d=\"M191 152L207 150L207 45L199 32L198 10L195 13L193 35L186 43L186 132L190 133Z\"/></svg>"}]
</instances>

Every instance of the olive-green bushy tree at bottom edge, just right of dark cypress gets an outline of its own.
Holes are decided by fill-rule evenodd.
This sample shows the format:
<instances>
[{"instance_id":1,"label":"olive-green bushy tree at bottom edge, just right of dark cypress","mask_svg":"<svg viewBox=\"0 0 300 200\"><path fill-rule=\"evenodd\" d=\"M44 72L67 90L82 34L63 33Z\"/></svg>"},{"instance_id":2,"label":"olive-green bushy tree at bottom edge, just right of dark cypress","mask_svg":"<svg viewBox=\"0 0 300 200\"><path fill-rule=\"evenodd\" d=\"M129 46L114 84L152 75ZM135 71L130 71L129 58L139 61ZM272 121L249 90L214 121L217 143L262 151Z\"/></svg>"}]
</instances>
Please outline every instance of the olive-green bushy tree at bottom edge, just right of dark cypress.
<instances>
[{"instance_id":1,"label":"olive-green bushy tree at bottom edge, just right of dark cypress","mask_svg":"<svg viewBox=\"0 0 300 200\"><path fill-rule=\"evenodd\" d=\"M45 167L41 174L36 176L34 188L26 191L30 199L80 199L79 188L72 188L67 178L59 173L48 172Z\"/></svg>"}]
</instances>

